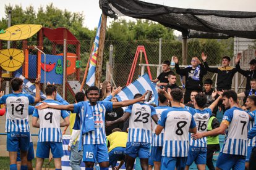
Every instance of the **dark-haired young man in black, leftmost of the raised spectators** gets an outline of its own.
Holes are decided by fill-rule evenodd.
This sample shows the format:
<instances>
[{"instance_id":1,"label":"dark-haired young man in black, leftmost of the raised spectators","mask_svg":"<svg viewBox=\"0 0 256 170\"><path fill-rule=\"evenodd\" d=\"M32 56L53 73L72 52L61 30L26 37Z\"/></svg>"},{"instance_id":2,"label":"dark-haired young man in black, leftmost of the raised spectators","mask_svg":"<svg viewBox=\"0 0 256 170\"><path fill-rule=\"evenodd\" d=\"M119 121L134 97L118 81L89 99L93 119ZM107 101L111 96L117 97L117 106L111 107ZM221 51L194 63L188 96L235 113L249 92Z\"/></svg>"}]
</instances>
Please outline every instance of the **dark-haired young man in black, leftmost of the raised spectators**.
<instances>
[{"instance_id":1,"label":"dark-haired young man in black, leftmost of the raised spectators","mask_svg":"<svg viewBox=\"0 0 256 170\"><path fill-rule=\"evenodd\" d=\"M157 84L157 86L166 86L168 84L168 75L169 73L173 73L170 68L171 62L169 60L164 60L162 63L162 73L156 78L153 79L153 83L157 83L160 81L160 83Z\"/></svg>"}]
</instances>

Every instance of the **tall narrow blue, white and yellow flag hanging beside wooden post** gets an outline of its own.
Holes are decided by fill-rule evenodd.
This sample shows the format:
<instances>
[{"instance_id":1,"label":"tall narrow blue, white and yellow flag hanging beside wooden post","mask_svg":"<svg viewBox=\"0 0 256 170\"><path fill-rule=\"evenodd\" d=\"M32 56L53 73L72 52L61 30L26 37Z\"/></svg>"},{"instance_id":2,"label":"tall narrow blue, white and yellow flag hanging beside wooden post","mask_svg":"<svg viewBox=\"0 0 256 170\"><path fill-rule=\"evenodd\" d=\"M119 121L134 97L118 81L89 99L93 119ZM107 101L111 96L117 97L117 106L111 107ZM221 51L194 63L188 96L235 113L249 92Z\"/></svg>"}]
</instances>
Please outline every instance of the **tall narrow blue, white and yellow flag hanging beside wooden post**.
<instances>
[{"instance_id":1,"label":"tall narrow blue, white and yellow flag hanging beside wooden post","mask_svg":"<svg viewBox=\"0 0 256 170\"><path fill-rule=\"evenodd\" d=\"M95 83L95 70L96 70L96 62L97 62L99 40L100 40L100 26L101 26L101 16L100 16L100 21L96 31L95 40L93 42L93 48L92 48L93 51L92 51L92 54L90 55L90 67L89 67L88 75L86 78L86 84L88 86L94 86L94 83Z\"/></svg>"}]
</instances>

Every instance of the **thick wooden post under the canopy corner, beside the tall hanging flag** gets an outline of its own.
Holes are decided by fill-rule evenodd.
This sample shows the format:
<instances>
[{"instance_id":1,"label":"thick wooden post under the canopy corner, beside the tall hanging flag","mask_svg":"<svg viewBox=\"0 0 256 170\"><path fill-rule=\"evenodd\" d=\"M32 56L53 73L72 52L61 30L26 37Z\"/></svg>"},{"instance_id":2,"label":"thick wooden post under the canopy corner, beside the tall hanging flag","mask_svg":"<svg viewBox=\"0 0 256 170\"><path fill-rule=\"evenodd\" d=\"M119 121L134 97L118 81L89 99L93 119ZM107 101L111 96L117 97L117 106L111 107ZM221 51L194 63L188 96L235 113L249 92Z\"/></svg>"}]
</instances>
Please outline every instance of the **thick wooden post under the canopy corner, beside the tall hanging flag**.
<instances>
[{"instance_id":1,"label":"thick wooden post under the canopy corner, beside the tall hanging flag","mask_svg":"<svg viewBox=\"0 0 256 170\"><path fill-rule=\"evenodd\" d=\"M104 52L104 44L105 44L105 36L106 36L106 22L107 16L102 14L101 17L101 27L100 27L100 41L98 48L98 57L96 62L96 71L95 71L95 86L100 87L100 78L101 78L101 70L103 63L103 52Z\"/></svg>"}]
</instances>

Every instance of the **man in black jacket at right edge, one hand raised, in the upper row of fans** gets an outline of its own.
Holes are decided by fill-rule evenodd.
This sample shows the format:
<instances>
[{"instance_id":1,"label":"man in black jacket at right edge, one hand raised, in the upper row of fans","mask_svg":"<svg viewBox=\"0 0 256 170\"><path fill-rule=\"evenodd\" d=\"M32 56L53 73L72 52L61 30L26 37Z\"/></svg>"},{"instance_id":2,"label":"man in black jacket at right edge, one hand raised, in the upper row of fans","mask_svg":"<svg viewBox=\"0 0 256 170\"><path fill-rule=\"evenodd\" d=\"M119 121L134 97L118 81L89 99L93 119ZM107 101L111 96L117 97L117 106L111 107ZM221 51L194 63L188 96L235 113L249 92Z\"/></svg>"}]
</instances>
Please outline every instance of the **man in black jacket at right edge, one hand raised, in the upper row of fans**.
<instances>
[{"instance_id":1,"label":"man in black jacket at right edge, one hand raised, in the upper row of fans","mask_svg":"<svg viewBox=\"0 0 256 170\"><path fill-rule=\"evenodd\" d=\"M239 56L238 59L240 61L241 55ZM255 59L250 60L249 64L250 64L250 70L242 70L240 68L239 62L236 65L238 73L240 73L241 75L246 77L245 91L250 90L250 80L253 79L253 78L256 78L256 60Z\"/></svg>"}]
</instances>

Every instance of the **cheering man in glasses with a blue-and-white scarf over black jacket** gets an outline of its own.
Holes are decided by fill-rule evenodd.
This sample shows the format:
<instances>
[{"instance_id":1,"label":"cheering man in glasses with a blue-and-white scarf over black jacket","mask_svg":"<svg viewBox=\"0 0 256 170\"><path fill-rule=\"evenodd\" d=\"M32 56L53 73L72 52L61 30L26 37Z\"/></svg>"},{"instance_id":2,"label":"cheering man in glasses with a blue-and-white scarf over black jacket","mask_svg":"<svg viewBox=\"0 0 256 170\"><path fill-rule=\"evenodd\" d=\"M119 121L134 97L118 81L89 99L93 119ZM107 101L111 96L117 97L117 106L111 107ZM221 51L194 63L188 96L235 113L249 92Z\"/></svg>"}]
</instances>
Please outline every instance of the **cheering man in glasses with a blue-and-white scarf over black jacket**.
<instances>
[{"instance_id":1,"label":"cheering man in glasses with a blue-and-white scarf over black jacket","mask_svg":"<svg viewBox=\"0 0 256 170\"><path fill-rule=\"evenodd\" d=\"M207 70L203 67L203 64L198 60L197 57L193 57L191 65L186 68L179 68L179 60L174 56L175 69L177 74L186 77L186 91L184 94L184 103L189 102L190 93L192 91L202 92L203 89L203 75L207 74Z\"/></svg>"}]
</instances>

